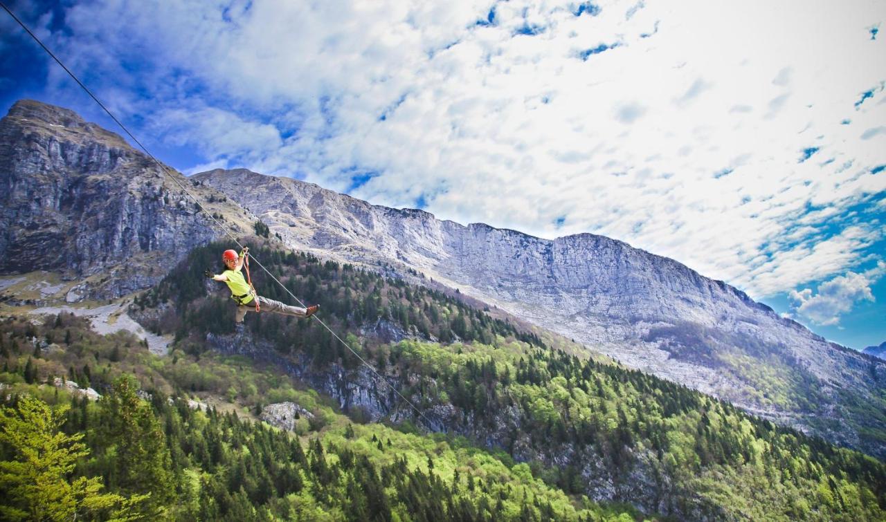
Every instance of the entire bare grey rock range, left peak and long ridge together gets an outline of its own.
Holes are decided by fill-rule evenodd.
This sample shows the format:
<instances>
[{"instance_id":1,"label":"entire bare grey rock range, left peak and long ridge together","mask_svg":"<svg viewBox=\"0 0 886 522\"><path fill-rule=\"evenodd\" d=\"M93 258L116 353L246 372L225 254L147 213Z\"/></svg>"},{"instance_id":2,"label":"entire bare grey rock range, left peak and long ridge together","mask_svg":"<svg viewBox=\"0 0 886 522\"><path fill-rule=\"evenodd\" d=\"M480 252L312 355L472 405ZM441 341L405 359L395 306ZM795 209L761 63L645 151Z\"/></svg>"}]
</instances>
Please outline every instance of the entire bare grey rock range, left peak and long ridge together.
<instances>
[{"instance_id":1,"label":"entire bare grey rock range, left peak and long ridge together","mask_svg":"<svg viewBox=\"0 0 886 522\"><path fill-rule=\"evenodd\" d=\"M886 457L886 363L624 242L462 226L244 170L166 176L120 136L31 101L0 120L0 188L0 273L62 273L71 302L151 287L221 236L208 213L233 234L260 216L291 249L432 278L627 366Z\"/></svg>"}]
</instances>

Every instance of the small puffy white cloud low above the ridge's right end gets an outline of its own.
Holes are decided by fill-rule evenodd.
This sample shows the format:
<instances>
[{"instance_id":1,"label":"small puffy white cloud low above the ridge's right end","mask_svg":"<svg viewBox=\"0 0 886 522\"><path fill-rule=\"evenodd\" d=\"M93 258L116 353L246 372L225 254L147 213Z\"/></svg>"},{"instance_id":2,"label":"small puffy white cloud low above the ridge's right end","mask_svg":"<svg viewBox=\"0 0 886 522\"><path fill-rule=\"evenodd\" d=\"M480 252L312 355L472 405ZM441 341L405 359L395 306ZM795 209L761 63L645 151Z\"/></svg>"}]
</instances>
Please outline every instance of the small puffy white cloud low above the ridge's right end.
<instances>
[{"instance_id":1,"label":"small puffy white cloud low above the ridge's right end","mask_svg":"<svg viewBox=\"0 0 886 522\"><path fill-rule=\"evenodd\" d=\"M881 261L864 274L850 272L821 283L817 294L810 288L791 290L791 307L818 325L838 325L840 316L852 311L856 303L874 301L870 287L883 273L886 273L886 263Z\"/></svg>"}]
</instances>

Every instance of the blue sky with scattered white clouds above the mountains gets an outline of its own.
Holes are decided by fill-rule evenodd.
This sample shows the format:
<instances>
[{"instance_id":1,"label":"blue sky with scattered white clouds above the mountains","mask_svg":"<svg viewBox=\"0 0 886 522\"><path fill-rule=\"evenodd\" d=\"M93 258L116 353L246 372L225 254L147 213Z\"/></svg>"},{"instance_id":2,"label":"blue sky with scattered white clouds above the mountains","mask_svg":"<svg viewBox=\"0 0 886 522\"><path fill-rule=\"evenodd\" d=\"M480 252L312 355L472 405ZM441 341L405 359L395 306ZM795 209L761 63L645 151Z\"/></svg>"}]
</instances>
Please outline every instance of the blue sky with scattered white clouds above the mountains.
<instances>
[{"instance_id":1,"label":"blue sky with scattered white clouds above the mountains","mask_svg":"<svg viewBox=\"0 0 886 522\"><path fill-rule=\"evenodd\" d=\"M152 153L725 280L886 342L886 2L4 0ZM0 111L117 132L0 12Z\"/></svg>"}]
</instances>

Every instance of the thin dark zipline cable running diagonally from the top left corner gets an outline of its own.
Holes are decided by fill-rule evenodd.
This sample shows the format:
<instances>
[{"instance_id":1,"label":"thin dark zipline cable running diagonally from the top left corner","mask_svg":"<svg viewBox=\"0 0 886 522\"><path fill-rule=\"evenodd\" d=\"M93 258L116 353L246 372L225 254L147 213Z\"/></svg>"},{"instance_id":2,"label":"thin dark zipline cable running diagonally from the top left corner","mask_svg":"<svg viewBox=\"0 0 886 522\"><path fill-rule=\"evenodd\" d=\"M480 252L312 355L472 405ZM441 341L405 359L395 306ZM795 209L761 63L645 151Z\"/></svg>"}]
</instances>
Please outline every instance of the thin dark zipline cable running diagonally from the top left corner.
<instances>
[{"instance_id":1,"label":"thin dark zipline cable running diagonally from the top left corner","mask_svg":"<svg viewBox=\"0 0 886 522\"><path fill-rule=\"evenodd\" d=\"M43 45L43 42L41 42L40 38L37 38L37 36L36 36L34 33L32 33L31 30L30 30L29 28L27 28L27 26L25 25L25 23L22 22L22 21L19 19L19 17L15 16L15 13L12 12L12 10L11 10L9 7L7 7L6 4L4 4L4 2L3 2L2 0L0 0L0 6L2 6L2 7L4 8L4 10L5 10L6 12L9 13L9 15L12 17L12 19L14 19L16 22L18 22L18 23L19 23L19 26L21 26L21 28L24 29L24 30L27 32L28 35L31 35L31 38L33 38L34 41L37 42L37 43L40 45L40 47L42 47L43 50L45 50L46 53L47 53L48 55L50 55L51 58L52 58L53 60L55 60L56 63L57 63L58 65L60 65L61 68L64 69L65 72L68 73L68 75L69 75L71 78L74 79L74 81L77 82L77 85L79 85L84 91L86 91L86 94L88 94L89 97L91 97L93 100L95 100L95 102L98 104L99 107L101 107L102 109L105 110L105 112L107 112L107 115L110 116L111 119L113 119L114 122L115 122L118 126L120 126L121 129L123 129L123 132L125 132L125 133L129 136L129 138L132 139L133 142L136 142L136 144L137 144L142 150L144 150L144 153L145 153L148 157L150 157L150 158L154 161L154 163L156 163L156 164L160 167L160 170L163 171L164 173L166 173L167 176L169 177L169 179L170 179L170 180L173 180L173 182L175 182L175 184L178 185L178 187L181 188L185 194L187 194L188 196L190 196L190 199L194 200L194 203L197 203L197 206L198 206L198 208L200 209L200 211L203 211L204 213L206 213L206 215L209 216L209 219L212 219L213 222L215 223L215 225L218 226L218 227L221 229L221 232L223 232L224 234L227 234L228 237L229 237L233 242L237 243L237 246L240 247L240 249L242 250L242 249L244 248L244 246L243 246L242 244L240 244L239 241L237 241L237 237L235 237L234 234L231 234L230 231L228 230L228 228L226 228L225 226L221 225L221 222L219 222L218 219L215 219L215 217L214 217L212 214L210 214L209 211L206 211L206 208L204 208L204 206L199 202L199 200L197 199L197 197L195 197L194 195L192 195L192 194L190 193L190 191L189 191L187 188L185 188L185 187L183 186L183 184L182 184L181 181L175 179L175 176L174 176L172 173L169 172L169 170L167 169L167 166L166 166L166 165L163 165L163 164L159 161L159 159L157 159L156 157L154 157L154 155L153 155L153 154L152 154L152 153L151 153L151 152L150 152L150 151L149 151L149 150L148 150L148 149L142 144L142 142L139 142L138 139L136 138L136 136L134 136L132 133L129 132L129 129L128 129L125 125L123 125L123 124L120 122L120 120L117 119L117 118L113 115L113 113L112 113L111 111L108 110L107 107L105 107L105 104L102 104L101 101L96 97L96 95L92 94L92 91L90 91L89 88L87 88L85 85L83 85L83 82L80 81L80 80L77 78L77 76L74 75L74 73L72 73L71 70L68 69L68 68L65 66L65 64L63 64L62 61L61 61L60 59L58 59L58 57L56 57L55 54L52 53L51 50L49 50L48 47L46 47L45 45ZM253 258L253 261L255 261L255 263L256 263L257 265L260 266L261 270L265 271L265 273L267 273L268 276L270 276L270 278L271 278L272 280L275 280L276 283L277 283L278 285L280 285L280 287L283 288L283 289L286 291L286 293L289 294L289 295L292 297L292 299L295 299L296 303L299 303L299 305L300 305L302 308L305 308L305 304L302 303L301 300L300 300L298 297L296 297L294 294L292 294L292 292L290 291L290 289L289 289L289 288L286 288L286 286L285 286L282 282L280 282L280 280L278 280L276 277L274 277L274 274L268 272L268 269L265 268L265 266L262 265L261 262L260 262L256 257L252 256L251 254L247 254L247 255L249 255L250 257L252 257L252 258ZM376 369L372 367L372 365L369 365L369 363L367 363L367 362L363 359L363 357L360 357L360 354L358 354L353 348L351 348L351 346L350 346L348 343L342 341L341 337L338 337L338 334L336 334L335 332L333 332L333 331L332 331L332 328L330 328L329 326L326 325L326 323L323 322L323 319L320 319L319 317L317 317L316 314L312 315L311 317L312 317L313 319L315 319L316 321L319 321L320 324L323 325L324 328L326 328L327 330L329 330L330 334L332 334L336 339L338 339L338 342L341 342L343 345L345 345L345 348L346 348L346 349L349 349L349 350L351 351L351 353L354 354L354 357L357 357L358 359L360 359L360 362L361 362L364 366L366 366L367 368L369 368L369 371L370 371L370 372L373 372L379 380L381 380L382 382L384 382L389 388L391 388L391 389L393 390L393 392L394 392L395 394L399 395L401 399L403 399L404 401L406 401L406 403L408 403L410 406L412 406L412 409L415 410L416 413L418 413L418 415L420 415L422 418L424 418L425 421L427 421L427 423L428 423L428 428L431 429L431 426L433 426L433 424L431 423L431 419L430 419L430 418L427 418L427 417L424 415L424 412L422 412L421 410L419 410L418 407L417 407L415 404L412 403L412 401L410 401L408 398L406 398L405 396L403 396L397 388L395 388L395 387L394 387L390 382L388 382L388 381L387 381L387 380L386 380L386 379L385 379L380 373L378 373L378 372L376 371Z\"/></svg>"}]
</instances>

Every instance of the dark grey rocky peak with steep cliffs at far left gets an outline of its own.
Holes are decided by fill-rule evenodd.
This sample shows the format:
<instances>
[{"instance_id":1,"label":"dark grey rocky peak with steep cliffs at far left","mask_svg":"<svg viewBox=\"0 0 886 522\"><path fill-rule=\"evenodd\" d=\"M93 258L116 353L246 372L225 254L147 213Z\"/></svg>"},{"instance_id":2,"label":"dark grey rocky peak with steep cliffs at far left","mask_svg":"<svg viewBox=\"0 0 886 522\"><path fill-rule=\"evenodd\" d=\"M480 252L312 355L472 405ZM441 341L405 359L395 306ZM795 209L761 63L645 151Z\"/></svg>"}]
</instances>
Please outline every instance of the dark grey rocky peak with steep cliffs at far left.
<instances>
[{"instance_id":1,"label":"dark grey rocky peak with steep cliffs at far left","mask_svg":"<svg viewBox=\"0 0 886 522\"><path fill-rule=\"evenodd\" d=\"M93 277L73 301L122 296L152 285L167 272L162 265L217 234L119 135L28 100L0 119L0 273Z\"/></svg>"}]
</instances>

